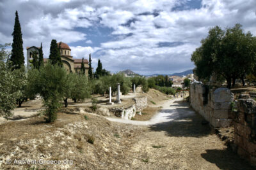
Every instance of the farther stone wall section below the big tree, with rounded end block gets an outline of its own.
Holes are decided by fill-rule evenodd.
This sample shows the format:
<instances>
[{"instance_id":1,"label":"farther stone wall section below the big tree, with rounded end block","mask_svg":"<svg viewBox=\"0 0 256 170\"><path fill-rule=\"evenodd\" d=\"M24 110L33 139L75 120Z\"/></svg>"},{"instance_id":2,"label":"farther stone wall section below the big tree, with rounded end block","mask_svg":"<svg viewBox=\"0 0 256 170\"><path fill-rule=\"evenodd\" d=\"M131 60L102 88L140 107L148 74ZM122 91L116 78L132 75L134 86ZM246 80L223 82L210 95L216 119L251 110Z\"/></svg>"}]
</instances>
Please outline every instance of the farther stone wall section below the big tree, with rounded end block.
<instances>
[{"instance_id":1,"label":"farther stone wall section below the big tree, with rounded end block","mask_svg":"<svg viewBox=\"0 0 256 170\"><path fill-rule=\"evenodd\" d=\"M202 83L190 85L189 101L213 127L228 127L232 122L234 94L227 88L211 89Z\"/></svg>"}]
</instances>

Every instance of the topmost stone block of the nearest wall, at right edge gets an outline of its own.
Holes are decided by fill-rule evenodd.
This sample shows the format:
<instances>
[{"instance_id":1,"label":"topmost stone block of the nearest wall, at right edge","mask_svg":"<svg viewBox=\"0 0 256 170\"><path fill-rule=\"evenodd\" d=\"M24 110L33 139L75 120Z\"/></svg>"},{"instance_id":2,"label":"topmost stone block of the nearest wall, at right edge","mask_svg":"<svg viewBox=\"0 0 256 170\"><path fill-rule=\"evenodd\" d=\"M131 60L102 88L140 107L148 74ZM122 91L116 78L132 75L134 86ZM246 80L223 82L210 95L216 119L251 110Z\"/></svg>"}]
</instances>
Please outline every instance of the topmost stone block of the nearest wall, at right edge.
<instances>
[{"instance_id":1,"label":"topmost stone block of the nearest wall, at right edge","mask_svg":"<svg viewBox=\"0 0 256 170\"><path fill-rule=\"evenodd\" d=\"M253 99L239 99L237 110L243 113L256 113L256 101Z\"/></svg>"}]
</instances>

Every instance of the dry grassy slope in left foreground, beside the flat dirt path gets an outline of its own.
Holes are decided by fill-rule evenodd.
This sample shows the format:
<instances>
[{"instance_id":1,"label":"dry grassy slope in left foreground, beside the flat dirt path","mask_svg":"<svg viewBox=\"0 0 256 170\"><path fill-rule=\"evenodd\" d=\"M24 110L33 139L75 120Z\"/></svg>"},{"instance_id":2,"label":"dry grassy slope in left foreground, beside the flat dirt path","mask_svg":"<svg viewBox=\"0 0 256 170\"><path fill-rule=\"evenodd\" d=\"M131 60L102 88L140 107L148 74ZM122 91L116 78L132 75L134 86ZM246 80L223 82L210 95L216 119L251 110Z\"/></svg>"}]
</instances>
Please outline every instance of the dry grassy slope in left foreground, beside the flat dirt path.
<instances>
[{"instance_id":1,"label":"dry grassy slope in left foreground, beside the flat dirt path","mask_svg":"<svg viewBox=\"0 0 256 170\"><path fill-rule=\"evenodd\" d=\"M85 120L84 115L90 117ZM73 160L73 164L38 165L38 169L113 169L122 166L124 153L136 142L141 128L109 122L105 118L88 114L58 113L56 122L46 124L44 118L33 117L0 125L0 155L12 160ZM96 139L88 143L90 134ZM115 134L118 136L115 137ZM13 153L15 153L13 155ZM65 154L64 154L65 153ZM0 169L26 169L24 164L0 164Z\"/></svg>"}]
</instances>

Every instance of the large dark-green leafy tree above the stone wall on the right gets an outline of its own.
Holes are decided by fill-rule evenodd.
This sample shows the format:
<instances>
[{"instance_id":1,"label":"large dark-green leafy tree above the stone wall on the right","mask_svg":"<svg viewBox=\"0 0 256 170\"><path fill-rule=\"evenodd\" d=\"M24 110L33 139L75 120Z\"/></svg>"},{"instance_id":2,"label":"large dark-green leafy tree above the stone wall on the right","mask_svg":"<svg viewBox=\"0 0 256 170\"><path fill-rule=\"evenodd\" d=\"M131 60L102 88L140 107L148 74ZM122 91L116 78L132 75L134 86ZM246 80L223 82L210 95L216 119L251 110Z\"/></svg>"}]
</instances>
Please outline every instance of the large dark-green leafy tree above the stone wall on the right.
<instances>
[{"instance_id":1,"label":"large dark-green leafy tree above the stone wall on the right","mask_svg":"<svg viewBox=\"0 0 256 170\"><path fill-rule=\"evenodd\" d=\"M243 80L252 71L256 59L255 38L250 32L245 33L242 25L225 30L213 27L201 44L191 56L201 80L207 81L215 73L227 80L230 89L232 80Z\"/></svg>"}]
</instances>

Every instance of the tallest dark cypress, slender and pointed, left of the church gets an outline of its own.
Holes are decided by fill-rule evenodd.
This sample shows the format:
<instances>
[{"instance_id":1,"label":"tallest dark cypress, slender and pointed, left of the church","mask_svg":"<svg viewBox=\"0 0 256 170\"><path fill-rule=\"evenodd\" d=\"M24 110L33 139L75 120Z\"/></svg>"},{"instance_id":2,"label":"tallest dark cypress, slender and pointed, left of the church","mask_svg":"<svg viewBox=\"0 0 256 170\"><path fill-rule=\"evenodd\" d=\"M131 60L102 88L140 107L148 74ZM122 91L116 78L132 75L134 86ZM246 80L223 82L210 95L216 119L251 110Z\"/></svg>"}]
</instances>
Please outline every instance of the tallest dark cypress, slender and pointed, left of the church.
<instances>
[{"instance_id":1,"label":"tallest dark cypress, slender and pointed, left of the church","mask_svg":"<svg viewBox=\"0 0 256 170\"><path fill-rule=\"evenodd\" d=\"M12 43L12 55L10 60L12 61L14 69L20 69L24 67L24 53L23 53L23 41L22 41L22 32L20 27L19 15L16 11L15 13L15 24L14 30L12 33L13 43Z\"/></svg>"}]
</instances>

